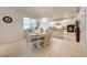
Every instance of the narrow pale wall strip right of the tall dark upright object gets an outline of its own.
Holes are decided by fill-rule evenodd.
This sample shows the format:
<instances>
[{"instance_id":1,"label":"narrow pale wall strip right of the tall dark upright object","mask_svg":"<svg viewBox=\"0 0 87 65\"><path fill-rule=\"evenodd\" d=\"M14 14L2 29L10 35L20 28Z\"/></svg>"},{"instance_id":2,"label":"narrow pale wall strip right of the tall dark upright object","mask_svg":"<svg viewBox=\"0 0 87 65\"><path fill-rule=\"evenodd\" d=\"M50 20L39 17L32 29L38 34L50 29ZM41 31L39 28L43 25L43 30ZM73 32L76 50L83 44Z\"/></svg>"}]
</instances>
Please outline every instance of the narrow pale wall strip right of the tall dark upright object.
<instances>
[{"instance_id":1,"label":"narrow pale wall strip right of the tall dark upright object","mask_svg":"<svg viewBox=\"0 0 87 65\"><path fill-rule=\"evenodd\" d=\"M79 28L80 28L80 44L84 46L86 51L86 10L85 8L80 8L80 12L78 13Z\"/></svg>"}]
</instances>

